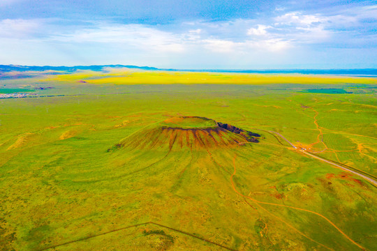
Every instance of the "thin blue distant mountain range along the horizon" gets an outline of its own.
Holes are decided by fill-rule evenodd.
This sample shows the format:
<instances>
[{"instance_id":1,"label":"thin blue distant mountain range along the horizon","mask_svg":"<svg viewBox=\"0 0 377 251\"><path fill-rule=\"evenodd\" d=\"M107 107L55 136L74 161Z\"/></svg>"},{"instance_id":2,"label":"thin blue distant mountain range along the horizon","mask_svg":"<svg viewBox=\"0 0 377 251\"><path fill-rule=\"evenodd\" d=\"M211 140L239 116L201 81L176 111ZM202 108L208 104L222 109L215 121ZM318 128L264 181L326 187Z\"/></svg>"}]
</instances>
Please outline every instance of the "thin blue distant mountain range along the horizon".
<instances>
[{"instance_id":1,"label":"thin blue distant mountain range along the horizon","mask_svg":"<svg viewBox=\"0 0 377 251\"><path fill-rule=\"evenodd\" d=\"M65 72L75 72L76 70L94 70L101 71L103 68L130 68L140 70L166 70L166 71L192 71L192 72L211 72L211 73L300 73L300 74L331 74L331 75L360 75L360 76L377 76L377 69L266 69L266 70L181 70L165 69L149 66L124 66L124 65L103 65L103 66L15 66L0 65L0 72L6 73L11 71L44 71L59 70Z\"/></svg>"}]
</instances>

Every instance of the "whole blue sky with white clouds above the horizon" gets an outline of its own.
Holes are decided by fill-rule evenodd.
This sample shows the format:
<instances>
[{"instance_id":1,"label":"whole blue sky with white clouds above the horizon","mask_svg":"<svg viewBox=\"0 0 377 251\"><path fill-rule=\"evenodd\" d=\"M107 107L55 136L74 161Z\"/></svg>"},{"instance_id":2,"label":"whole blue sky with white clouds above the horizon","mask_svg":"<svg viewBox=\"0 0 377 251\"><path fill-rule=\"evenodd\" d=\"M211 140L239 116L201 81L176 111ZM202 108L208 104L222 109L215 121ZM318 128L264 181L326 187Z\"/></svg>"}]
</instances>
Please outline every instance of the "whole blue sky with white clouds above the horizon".
<instances>
[{"instance_id":1,"label":"whole blue sky with white clouds above the horizon","mask_svg":"<svg viewBox=\"0 0 377 251\"><path fill-rule=\"evenodd\" d=\"M377 68L377 1L1 0L0 64Z\"/></svg>"}]
</instances>

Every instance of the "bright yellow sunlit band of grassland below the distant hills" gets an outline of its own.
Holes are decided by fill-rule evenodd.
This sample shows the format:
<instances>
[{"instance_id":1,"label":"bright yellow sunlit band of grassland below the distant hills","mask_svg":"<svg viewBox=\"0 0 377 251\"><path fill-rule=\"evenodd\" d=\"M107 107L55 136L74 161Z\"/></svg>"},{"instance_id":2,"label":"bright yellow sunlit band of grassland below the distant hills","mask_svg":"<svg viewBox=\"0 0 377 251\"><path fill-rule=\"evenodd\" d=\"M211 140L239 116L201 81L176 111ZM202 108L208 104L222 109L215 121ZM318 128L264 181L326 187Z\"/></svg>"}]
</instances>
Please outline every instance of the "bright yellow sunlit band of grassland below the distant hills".
<instances>
[{"instance_id":1,"label":"bright yellow sunlit band of grassland below the distant hills","mask_svg":"<svg viewBox=\"0 0 377 251\"><path fill-rule=\"evenodd\" d=\"M247 73L190 73L140 70L112 70L108 73L82 70L54 75L51 81L84 81L90 84L376 84L372 77L331 75L278 75Z\"/></svg>"}]
</instances>

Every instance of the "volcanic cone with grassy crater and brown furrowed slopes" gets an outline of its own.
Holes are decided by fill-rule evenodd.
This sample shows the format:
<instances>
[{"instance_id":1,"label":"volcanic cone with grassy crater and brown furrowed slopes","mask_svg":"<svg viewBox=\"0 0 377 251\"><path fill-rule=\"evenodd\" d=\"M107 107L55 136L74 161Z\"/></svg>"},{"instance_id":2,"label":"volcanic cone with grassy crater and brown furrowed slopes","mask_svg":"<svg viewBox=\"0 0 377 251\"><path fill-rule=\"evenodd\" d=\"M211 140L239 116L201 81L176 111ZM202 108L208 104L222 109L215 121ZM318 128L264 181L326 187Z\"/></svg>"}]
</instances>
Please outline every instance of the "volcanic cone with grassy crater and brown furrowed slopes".
<instances>
[{"instance_id":1,"label":"volcanic cone with grassy crater and brown furrowed slopes","mask_svg":"<svg viewBox=\"0 0 377 251\"><path fill-rule=\"evenodd\" d=\"M115 148L181 151L258 143L257 133L200 116L180 116L148 126L122 139ZM109 149L110 150L110 149Z\"/></svg>"}]
</instances>

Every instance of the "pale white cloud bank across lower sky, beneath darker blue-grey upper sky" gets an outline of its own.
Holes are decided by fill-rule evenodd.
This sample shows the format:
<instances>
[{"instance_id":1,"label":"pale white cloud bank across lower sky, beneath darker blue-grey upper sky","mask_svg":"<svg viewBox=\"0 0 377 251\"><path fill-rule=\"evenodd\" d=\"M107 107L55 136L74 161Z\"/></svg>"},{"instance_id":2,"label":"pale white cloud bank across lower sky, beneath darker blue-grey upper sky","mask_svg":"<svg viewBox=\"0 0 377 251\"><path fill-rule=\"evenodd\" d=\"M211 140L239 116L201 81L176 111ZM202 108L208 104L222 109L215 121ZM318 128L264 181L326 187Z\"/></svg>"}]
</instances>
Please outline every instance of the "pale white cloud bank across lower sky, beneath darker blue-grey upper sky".
<instances>
[{"instance_id":1,"label":"pale white cloud bank across lower sky, beneath darker blue-grey upper sky","mask_svg":"<svg viewBox=\"0 0 377 251\"><path fill-rule=\"evenodd\" d=\"M331 13L276 7L269 15L256 18L166 24L114 18L8 18L0 20L0 63L372 68L377 56L376 17L377 5Z\"/></svg>"}]
</instances>

